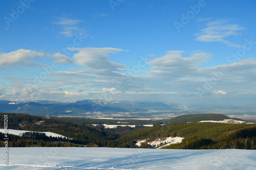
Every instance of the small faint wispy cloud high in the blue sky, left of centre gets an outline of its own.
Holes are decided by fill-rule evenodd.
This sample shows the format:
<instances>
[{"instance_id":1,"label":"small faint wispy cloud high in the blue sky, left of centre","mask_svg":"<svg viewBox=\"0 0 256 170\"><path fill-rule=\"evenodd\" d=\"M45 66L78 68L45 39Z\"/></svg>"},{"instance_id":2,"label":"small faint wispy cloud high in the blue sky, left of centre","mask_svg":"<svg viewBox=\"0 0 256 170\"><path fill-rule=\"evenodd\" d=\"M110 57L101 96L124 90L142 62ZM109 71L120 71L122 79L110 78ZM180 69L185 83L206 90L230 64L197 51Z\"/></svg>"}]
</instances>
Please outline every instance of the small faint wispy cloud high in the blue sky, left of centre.
<instances>
[{"instance_id":1,"label":"small faint wispy cloud high in the blue sky, left of centre","mask_svg":"<svg viewBox=\"0 0 256 170\"><path fill-rule=\"evenodd\" d=\"M86 31L79 27L81 20L69 19L65 17L58 17L56 21L53 21L54 25L58 25L61 30L59 34L66 37L72 37L74 34L84 34Z\"/></svg>"}]
</instances>

